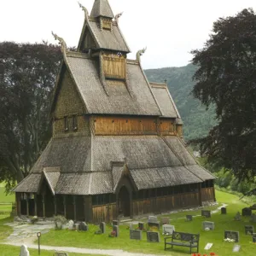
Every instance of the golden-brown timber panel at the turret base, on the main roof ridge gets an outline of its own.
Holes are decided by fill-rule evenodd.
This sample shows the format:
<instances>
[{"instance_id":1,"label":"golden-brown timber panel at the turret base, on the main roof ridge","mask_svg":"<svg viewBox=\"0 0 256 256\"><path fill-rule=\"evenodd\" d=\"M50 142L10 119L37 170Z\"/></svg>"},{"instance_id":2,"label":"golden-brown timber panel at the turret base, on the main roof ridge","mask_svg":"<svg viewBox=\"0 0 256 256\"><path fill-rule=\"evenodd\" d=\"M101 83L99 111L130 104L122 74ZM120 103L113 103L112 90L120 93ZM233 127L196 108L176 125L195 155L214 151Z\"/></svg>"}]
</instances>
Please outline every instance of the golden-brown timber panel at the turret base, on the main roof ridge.
<instances>
[{"instance_id":1,"label":"golden-brown timber panel at the turret base, on the main roof ridge","mask_svg":"<svg viewBox=\"0 0 256 256\"><path fill-rule=\"evenodd\" d=\"M102 55L102 70L106 78L125 79L126 72L125 56Z\"/></svg>"}]
</instances>

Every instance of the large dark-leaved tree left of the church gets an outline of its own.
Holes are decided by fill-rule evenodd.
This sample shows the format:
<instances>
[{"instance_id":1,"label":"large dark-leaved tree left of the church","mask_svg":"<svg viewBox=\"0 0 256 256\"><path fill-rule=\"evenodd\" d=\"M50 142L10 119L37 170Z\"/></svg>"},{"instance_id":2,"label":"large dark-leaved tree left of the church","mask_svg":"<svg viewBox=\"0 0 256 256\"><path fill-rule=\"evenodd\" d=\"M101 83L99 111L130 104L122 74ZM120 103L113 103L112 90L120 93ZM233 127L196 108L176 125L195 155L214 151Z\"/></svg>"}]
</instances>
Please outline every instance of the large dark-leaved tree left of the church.
<instances>
[{"instance_id":1,"label":"large dark-leaved tree left of the church","mask_svg":"<svg viewBox=\"0 0 256 256\"><path fill-rule=\"evenodd\" d=\"M61 64L59 46L0 43L0 181L11 189L51 136L50 99Z\"/></svg>"}]
</instances>

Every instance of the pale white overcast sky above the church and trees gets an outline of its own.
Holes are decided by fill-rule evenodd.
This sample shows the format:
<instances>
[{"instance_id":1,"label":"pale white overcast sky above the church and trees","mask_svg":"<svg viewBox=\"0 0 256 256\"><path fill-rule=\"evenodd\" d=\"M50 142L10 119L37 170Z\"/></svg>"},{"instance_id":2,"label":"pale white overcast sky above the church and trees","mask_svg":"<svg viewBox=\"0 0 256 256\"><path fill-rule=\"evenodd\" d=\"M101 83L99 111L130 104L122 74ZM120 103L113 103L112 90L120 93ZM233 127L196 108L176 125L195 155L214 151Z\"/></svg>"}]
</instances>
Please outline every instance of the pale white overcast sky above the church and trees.
<instances>
[{"instance_id":1,"label":"pale white overcast sky above the church and trees","mask_svg":"<svg viewBox=\"0 0 256 256\"><path fill-rule=\"evenodd\" d=\"M79 0L90 13L94 0ZM113 14L124 12L119 27L135 59L137 50L144 69L183 67L189 64L191 49L201 49L219 17L236 15L253 8L255 0L108 0ZM57 44L55 32L77 46L84 24L84 12L76 0L0 0L0 42Z\"/></svg>"}]
</instances>

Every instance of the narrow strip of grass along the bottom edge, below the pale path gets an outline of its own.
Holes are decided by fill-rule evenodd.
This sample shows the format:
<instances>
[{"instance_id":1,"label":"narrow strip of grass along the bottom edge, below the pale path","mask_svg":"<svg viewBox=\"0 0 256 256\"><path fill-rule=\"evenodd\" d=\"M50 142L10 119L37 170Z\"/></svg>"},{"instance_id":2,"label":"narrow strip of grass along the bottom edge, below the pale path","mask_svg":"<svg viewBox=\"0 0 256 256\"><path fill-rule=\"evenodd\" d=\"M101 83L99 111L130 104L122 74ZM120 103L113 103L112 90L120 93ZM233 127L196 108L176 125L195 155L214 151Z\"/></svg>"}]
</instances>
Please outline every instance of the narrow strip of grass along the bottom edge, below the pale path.
<instances>
[{"instance_id":1,"label":"narrow strip of grass along the bottom edge, below the pale path","mask_svg":"<svg viewBox=\"0 0 256 256\"><path fill-rule=\"evenodd\" d=\"M28 249L31 256L38 255L38 250L36 249ZM20 247L13 247L9 245L0 244L0 252L1 256L17 256L20 255ZM54 251L40 251L41 256L53 256ZM68 256L97 256L96 254L81 254L81 253L68 253ZM99 256L99 255L98 255ZM101 255L102 256L102 255Z\"/></svg>"}]
</instances>

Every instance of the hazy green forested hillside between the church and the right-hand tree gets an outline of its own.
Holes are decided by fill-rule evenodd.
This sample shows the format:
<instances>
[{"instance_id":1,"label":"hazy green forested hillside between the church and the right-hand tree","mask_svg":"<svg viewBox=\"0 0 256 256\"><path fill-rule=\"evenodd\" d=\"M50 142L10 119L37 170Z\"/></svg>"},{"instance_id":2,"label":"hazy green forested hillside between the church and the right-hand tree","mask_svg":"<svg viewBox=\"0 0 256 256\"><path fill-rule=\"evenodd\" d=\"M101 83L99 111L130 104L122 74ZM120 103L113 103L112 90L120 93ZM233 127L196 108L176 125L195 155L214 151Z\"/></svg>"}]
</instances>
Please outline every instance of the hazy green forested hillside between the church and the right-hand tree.
<instances>
[{"instance_id":1,"label":"hazy green forested hillside between the church and the right-hand tree","mask_svg":"<svg viewBox=\"0 0 256 256\"><path fill-rule=\"evenodd\" d=\"M164 67L148 69L145 73L150 82L164 83L165 79L177 109L183 119L183 131L186 141L207 135L209 129L216 123L214 109L208 111L190 92L194 86L192 77L195 66Z\"/></svg>"}]
</instances>

